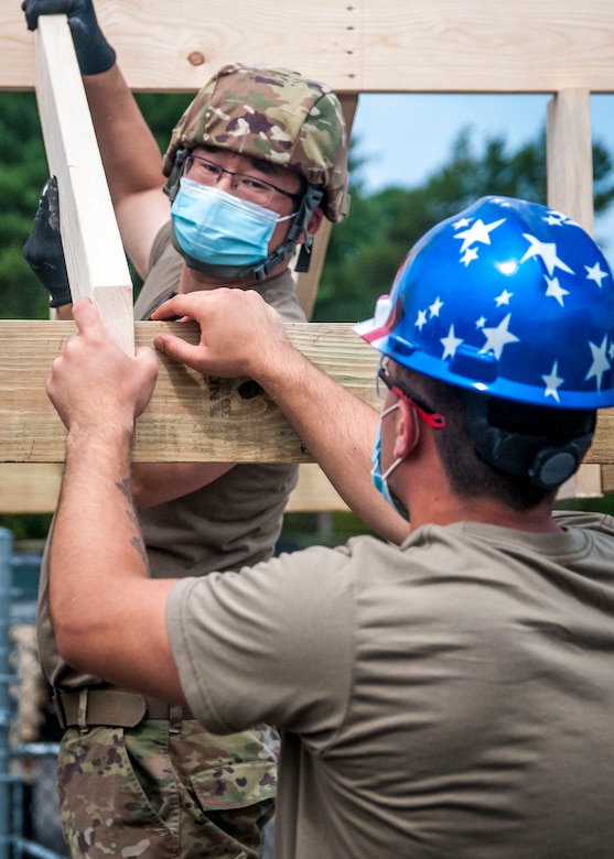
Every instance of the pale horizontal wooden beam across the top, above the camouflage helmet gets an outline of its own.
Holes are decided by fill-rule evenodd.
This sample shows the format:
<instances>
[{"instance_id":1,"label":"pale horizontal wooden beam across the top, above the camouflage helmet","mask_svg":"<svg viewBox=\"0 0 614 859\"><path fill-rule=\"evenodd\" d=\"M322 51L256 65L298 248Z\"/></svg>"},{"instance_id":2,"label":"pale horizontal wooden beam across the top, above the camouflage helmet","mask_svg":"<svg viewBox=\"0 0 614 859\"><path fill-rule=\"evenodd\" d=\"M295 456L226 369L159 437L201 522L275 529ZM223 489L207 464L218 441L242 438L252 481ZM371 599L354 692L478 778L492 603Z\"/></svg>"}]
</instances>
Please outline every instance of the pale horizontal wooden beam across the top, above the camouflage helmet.
<instances>
[{"instance_id":1,"label":"pale horizontal wooden beam across the top, above the camouflage helmet","mask_svg":"<svg viewBox=\"0 0 614 859\"><path fill-rule=\"evenodd\" d=\"M340 93L614 91L611 0L99 0L129 85L194 91L262 61ZM34 86L19 0L0 4L0 87ZM394 118L392 120L394 121Z\"/></svg>"}]
</instances>

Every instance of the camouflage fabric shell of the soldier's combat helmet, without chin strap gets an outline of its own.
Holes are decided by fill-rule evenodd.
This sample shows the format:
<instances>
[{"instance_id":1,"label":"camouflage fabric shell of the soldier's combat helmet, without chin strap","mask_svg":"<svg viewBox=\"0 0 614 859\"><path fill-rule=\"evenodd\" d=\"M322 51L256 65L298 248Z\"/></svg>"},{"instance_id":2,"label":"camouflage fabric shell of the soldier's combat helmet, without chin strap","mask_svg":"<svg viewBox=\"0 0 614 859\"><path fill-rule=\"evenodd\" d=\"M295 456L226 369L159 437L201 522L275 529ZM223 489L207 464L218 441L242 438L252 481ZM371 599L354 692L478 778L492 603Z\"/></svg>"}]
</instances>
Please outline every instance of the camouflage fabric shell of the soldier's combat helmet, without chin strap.
<instances>
[{"instance_id":1,"label":"camouflage fabric shell of the soldier's combat helmet, without chin strap","mask_svg":"<svg viewBox=\"0 0 614 859\"><path fill-rule=\"evenodd\" d=\"M330 87L286 68L234 63L197 94L173 129L163 160L173 176L177 153L196 145L229 149L300 173L323 192L331 221L347 214L347 138L340 101Z\"/></svg>"}]
</instances>

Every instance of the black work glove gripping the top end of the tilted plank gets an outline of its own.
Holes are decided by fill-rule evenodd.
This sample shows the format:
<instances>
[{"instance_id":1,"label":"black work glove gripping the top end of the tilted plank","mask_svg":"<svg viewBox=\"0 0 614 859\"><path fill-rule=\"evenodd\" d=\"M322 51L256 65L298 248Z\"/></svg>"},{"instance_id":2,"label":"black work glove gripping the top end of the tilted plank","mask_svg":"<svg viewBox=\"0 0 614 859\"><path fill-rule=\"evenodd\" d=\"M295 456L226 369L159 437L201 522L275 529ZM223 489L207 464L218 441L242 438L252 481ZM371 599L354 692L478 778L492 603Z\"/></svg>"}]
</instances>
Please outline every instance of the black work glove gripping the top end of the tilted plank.
<instances>
[{"instance_id":1,"label":"black work glove gripping the top end of the tilted plank","mask_svg":"<svg viewBox=\"0 0 614 859\"><path fill-rule=\"evenodd\" d=\"M67 15L82 75L98 75L115 63L115 51L103 35L91 0L23 0L21 8L29 30L36 29L39 15Z\"/></svg>"}]
</instances>

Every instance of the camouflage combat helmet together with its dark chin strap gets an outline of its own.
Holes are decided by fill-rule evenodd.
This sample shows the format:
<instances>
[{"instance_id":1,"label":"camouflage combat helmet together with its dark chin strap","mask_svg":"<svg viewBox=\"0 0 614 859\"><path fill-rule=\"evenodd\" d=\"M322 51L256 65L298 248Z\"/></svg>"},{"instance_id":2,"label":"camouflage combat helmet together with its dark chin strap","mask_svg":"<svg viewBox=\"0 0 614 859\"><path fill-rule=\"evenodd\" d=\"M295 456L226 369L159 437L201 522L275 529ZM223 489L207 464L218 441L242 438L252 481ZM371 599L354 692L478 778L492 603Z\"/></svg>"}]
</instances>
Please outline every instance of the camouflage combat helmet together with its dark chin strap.
<instances>
[{"instance_id":1,"label":"camouflage combat helmet together with its dark chin strap","mask_svg":"<svg viewBox=\"0 0 614 859\"><path fill-rule=\"evenodd\" d=\"M182 202L182 175L191 175L191 153L200 146L225 150L293 171L302 178L297 211L283 242L272 253L233 265L212 263L206 252L190 253L181 214L173 209L173 243L188 265L208 274L262 280L289 259L302 241L299 271L309 269L316 208L331 221L347 214L347 142L341 105L330 87L295 72L236 63L224 66L198 93L173 130L163 161L165 191ZM186 170L187 165L187 170ZM196 165L198 166L198 165ZM202 175L202 172L201 172ZM213 178L213 176L212 176ZM213 244L213 242L212 242Z\"/></svg>"}]
</instances>

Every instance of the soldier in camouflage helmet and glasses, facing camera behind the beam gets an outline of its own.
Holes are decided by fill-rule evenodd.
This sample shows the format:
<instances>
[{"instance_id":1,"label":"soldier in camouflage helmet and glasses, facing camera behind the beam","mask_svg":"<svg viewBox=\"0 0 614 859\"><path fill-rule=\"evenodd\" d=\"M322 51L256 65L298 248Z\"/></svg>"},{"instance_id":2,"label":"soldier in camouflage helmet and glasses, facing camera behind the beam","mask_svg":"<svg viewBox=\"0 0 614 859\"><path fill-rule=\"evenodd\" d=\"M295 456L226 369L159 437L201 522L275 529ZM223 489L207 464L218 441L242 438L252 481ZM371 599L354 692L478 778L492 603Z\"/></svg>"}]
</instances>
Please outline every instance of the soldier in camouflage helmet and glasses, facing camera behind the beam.
<instances>
[{"instance_id":1,"label":"soldier in camouflage helmet and glasses, facing camera behind the beam","mask_svg":"<svg viewBox=\"0 0 614 859\"><path fill-rule=\"evenodd\" d=\"M125 249L144 281L136 318L175 293L225 286L254 289L286 322L304 322L290 262L300 248L305 270L322 219L342 220L348 205L334 93L288 69L227 65L177 122L161 170L91 0L24 0L23 10L32 30L41 14L68 17ZM69 318L57 206L51 181L24 254ZM224 403L220 383L211 407ZM132 479L150 575L203 576L271 556L297 466L139 464ZM186 708L74 671L57 650L47 573L45 553L39 651L63 729L72 855L260 856L277 792L274 732L213 737Z\"/></svg>"}]
</instances>

